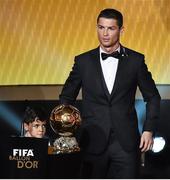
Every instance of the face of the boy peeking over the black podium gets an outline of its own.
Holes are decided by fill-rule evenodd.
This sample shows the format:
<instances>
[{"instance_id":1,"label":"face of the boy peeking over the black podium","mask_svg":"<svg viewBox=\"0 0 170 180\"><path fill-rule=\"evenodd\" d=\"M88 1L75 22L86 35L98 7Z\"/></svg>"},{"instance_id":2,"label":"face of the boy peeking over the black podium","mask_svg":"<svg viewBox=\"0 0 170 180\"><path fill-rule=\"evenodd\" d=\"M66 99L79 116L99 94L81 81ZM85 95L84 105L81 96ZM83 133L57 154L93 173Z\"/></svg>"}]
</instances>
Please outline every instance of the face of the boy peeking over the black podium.
<instances>
[{"instance_id":1,"label":"face of the boy peeking over the black podium","mask_svg":"<svg viewBox=\"0 0 170 180\"><path fill-rule=\"evenodd\" d=\"M24 123L27 137L43 138L46 132L46 121L35 120L32 123Z\"/></svg>"}]
</instances>

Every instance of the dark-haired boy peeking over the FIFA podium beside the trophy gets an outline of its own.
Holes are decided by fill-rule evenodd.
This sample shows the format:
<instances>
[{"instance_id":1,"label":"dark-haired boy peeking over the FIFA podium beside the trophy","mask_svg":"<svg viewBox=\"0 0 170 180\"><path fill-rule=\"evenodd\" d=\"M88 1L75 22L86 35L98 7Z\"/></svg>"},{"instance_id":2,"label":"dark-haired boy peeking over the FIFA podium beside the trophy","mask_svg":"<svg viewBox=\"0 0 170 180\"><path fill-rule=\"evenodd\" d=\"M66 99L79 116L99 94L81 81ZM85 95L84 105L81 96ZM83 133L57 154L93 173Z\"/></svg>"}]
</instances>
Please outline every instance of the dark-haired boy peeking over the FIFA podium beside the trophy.
<instances>
[{"instance_id":1,"label":"dark-haired boy peeking over the FIFA podium beside the trophy","mask_svg":"<svg viewBox=\"0 0 170 180\"><path fill-rule=\"evenodd\" d=\"M46 115L41 108L27 107L23 120L24 136L43 138L46 133Z\"/></svg>"}]
</instances>

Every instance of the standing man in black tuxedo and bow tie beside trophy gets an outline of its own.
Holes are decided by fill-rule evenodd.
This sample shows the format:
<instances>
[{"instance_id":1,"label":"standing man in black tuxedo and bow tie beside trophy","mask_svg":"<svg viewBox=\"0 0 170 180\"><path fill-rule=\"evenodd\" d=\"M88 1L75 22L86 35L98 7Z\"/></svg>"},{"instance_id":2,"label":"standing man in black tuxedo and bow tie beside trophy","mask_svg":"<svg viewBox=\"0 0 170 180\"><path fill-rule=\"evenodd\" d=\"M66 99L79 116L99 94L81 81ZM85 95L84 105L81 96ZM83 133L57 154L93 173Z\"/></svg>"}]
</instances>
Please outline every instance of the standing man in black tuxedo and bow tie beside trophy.
<instances>
[{"instance_id":1,"label":"standing man in black tuxedo and bow tie beside trophy","mask_svg":"<svg viewBox=\"0 0 170 180\"><path fill-rule=\"evenodd\" d=\"M102 10L97 18L100 46L75 57L60 94L61 103L73 104L82 88L83 178L137 178L140 152L153 144L160 95L144 55L120 44L122 32L122 14ZM146 102L141 137L135 110L137 86Z\"/></svg>"}]
</instances>

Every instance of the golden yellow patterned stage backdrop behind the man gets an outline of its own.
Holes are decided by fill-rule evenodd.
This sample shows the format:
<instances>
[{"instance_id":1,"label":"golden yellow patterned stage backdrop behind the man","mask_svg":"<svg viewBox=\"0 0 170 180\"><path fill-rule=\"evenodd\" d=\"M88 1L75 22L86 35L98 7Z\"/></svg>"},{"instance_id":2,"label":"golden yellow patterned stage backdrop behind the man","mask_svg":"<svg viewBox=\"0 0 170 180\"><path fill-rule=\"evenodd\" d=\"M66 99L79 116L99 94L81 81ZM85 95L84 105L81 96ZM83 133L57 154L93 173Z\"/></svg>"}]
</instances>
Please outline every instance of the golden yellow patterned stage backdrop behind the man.
<instances>
[{"instance_id":1,"label":"golden yellow patterned stage backdrop behind the man","mask_svg":"<svg viewBox=\"0 0 170 180\"><path fill-rule=\"evenodd\" d=\"M74 56L98 46L103 8L123 13L122 44L169 84L169 0L0 0L0 85L63 84Z\"/></svg>"}]
</instances>

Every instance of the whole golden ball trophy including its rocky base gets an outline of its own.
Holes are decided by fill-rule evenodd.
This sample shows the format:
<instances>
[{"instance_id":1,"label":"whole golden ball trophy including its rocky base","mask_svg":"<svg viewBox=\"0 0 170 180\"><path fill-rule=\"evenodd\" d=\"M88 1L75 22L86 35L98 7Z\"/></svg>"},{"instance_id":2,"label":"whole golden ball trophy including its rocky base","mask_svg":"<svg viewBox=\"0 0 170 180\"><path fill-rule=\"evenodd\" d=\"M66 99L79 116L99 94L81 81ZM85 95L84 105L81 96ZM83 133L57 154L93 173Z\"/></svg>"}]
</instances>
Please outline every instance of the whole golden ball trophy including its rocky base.
<instances>
[{"instance_id":1,"label":"whole golden ball trophy including its rocky base","mask_svg":"<svg viewBox=\"0 0 170 180\"><path fill-rule=\"evenodd\" d=\"M76 129L80 126L80 111L71 105L59 105L50 114L50 126L59 135L54 141L52 154L80 151L76 138Z\"/></svg>"}]
</instances>

